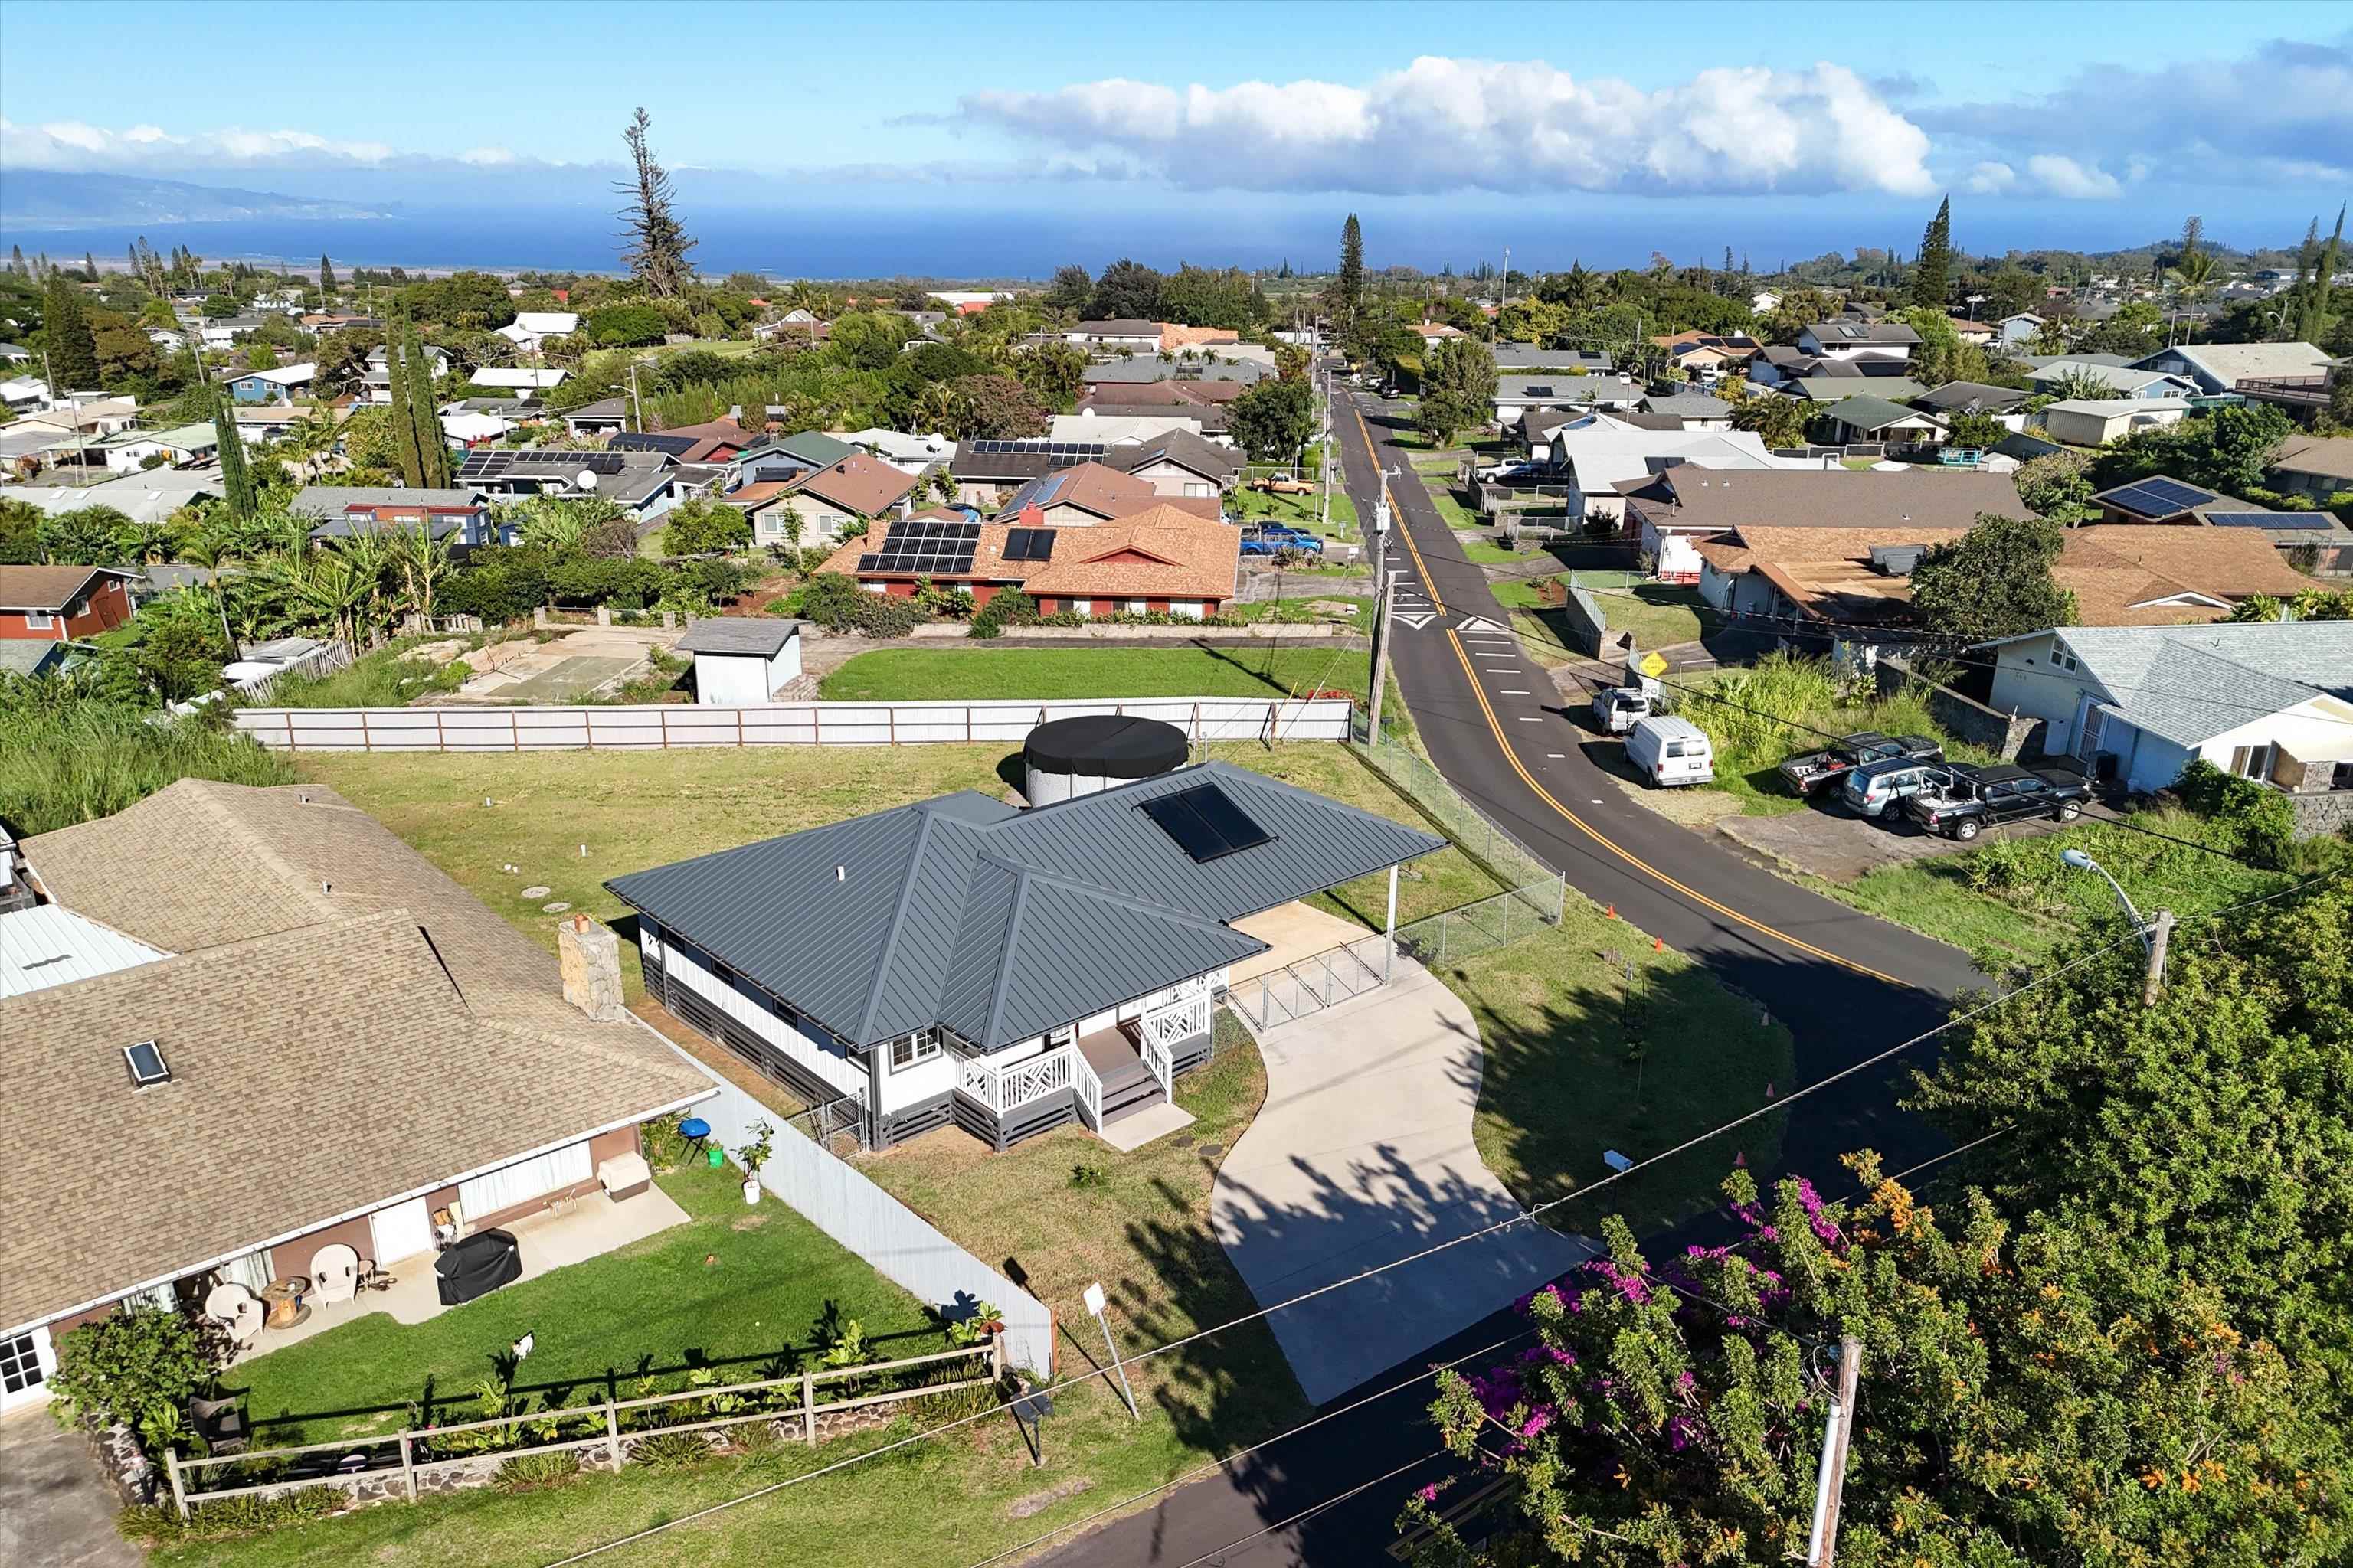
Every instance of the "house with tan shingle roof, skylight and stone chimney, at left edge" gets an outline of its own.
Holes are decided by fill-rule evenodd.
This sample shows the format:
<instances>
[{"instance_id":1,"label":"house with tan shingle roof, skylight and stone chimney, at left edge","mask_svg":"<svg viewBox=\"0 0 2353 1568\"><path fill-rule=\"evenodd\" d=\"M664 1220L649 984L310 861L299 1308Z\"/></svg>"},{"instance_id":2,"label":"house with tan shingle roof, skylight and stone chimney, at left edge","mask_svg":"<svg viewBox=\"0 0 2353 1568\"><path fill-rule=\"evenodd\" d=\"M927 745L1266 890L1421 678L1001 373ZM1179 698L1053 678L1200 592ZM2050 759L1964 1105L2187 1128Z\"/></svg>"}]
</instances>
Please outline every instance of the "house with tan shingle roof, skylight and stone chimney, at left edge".
<instances>
[{"instance_id":1,"label":"house with tan shingle roof, skylight and stone chimney, at left edge","mask_svg":"<svg viewBox=\"0 0 2353 1568\"><path fill-rule=\"evenodd\" d=\"M600 1171L645 1168L638 1124L713 1093L619 1013L593 938L567 983L320 785L184 778L21 849L45 903L0 917L0 1072L78 1112L0 1126L0 1406L125 1305L259 1291L325 1246L431 1269L442 1211L475 1232L602 1204ZM125 1171L139 1201L108 1197Z\"/></svg>"}]
</instances>

